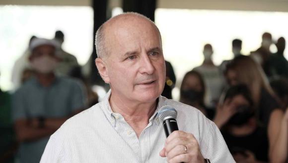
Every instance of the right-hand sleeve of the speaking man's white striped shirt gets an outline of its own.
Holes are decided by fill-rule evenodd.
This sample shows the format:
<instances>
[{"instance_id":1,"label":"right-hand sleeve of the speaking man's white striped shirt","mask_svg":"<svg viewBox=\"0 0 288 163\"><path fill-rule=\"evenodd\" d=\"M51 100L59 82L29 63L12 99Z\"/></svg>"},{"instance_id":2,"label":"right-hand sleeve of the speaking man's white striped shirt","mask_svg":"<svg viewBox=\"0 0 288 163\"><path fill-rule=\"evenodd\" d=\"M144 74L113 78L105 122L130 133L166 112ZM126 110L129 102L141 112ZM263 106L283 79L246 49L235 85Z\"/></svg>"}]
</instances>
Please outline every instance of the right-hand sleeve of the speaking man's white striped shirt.
<instances>
[{"instance_id":1,"label":"right-hand sleeve of the speaking man's white striped shirt","mask_svg":"<svg viewBox=\"0 0 288 163\"><path fill-rule=\"evenodd\" d=\"M211 163L235 163L215 123L205 117L201 123L199 146L203 157Z\"/></svg>"}]
</instances>

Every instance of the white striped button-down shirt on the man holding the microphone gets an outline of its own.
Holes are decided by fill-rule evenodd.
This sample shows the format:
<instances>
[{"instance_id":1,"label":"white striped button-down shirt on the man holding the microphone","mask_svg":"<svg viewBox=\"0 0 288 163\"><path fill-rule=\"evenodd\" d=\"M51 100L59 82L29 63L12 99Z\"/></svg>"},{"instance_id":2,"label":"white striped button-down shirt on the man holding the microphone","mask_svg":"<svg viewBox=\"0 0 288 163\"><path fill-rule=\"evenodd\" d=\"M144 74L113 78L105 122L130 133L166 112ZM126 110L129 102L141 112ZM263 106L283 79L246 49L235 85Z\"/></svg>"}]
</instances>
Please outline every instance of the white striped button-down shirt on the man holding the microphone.
<instances>
[{"instance_id":1,"label":"white striped button-down shirt on the man holding the microphone","mask_svg":"<svg viewBox=\"0 0 288 163\"><path fill-rule=\"evenodd\" d=\"M199 110L160 96L155 113L139 138L105 99L66 121L45 148L41 163L166 163L159 156L166 136L156 114L164 105L178 112L179 130L192 133L211 163L235 163L216 125Z\"/></svg>"}]
</instances>

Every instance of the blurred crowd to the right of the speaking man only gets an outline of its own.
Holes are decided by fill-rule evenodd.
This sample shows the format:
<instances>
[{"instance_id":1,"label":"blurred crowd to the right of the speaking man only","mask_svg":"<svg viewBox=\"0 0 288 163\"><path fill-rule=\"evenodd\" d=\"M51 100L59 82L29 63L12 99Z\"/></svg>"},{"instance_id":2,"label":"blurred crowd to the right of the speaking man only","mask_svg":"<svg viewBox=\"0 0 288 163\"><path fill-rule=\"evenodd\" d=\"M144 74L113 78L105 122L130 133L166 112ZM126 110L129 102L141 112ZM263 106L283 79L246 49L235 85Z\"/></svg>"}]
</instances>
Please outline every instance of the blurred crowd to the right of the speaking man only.
<instances>
[{"instance_id":1,"label":"blurred crowd to the right of the speaking man only","mask_svg":"<svg viewBox=\"0 0 288 163\"><path fill-rule=\"evenodd\" d=\"M248 55L242 41L232 41L233 59L216 66L213 46L206 44L201 66L187 72L180 101L199 109L216 123L237 163L288 161L288 61L286 41L270 33Z\"/></svg>"}]
</instances>

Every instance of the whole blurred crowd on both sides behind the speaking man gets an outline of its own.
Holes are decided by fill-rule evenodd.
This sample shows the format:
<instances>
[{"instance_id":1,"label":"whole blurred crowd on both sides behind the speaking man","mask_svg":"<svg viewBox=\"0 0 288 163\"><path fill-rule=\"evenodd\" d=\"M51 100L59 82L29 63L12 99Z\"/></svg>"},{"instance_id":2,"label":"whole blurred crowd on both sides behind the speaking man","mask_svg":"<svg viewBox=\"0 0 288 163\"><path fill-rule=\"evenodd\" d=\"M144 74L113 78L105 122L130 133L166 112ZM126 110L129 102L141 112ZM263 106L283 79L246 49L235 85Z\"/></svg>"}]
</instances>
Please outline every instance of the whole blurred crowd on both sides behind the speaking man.
<instances>
[{"instance_id":1,"label":"whole blurred crowd on both sides behind the speaking man","mask_svg":"<svg viewBox=\"0 0 288 163\"><path fill-rule=\"evenodd\" d=\"M62 49L63 32L53 40L31 37L15 62L13 94L0 90L0 162L37 163L54 133L67 119L98 103L98 95L77 59ZM277 52L270 46L275 43ZM199 109L219 127L238 163L288 162L288 61L286 41L262 35L261 46L242 54L232 41L233 59L216 66L213 45L204 61L187 72L180 102ZM176 76L166 64L163 96L172 98Z\"/></svg>"}]
</instances>

